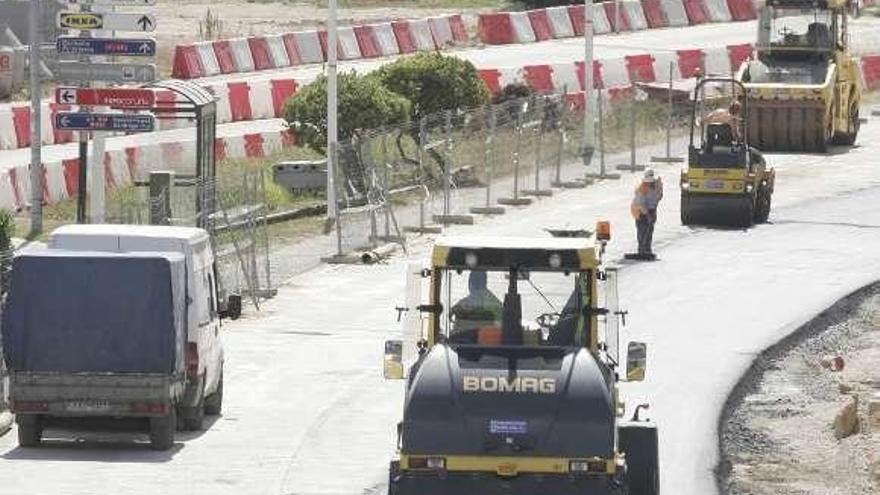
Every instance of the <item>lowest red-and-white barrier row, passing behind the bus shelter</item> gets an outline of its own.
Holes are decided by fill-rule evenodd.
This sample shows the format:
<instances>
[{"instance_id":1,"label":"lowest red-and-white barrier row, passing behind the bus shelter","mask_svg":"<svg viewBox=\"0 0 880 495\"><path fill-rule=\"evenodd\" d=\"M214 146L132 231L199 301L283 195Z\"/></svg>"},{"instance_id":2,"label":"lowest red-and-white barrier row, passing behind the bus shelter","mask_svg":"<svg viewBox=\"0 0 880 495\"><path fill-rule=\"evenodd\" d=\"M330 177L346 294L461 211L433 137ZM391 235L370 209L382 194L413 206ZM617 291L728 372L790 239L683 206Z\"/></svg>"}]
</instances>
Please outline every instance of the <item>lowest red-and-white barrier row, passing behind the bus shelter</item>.
<instances>
[{"instance_id":1,"label":"lowest red-and-white barrier row, passing behind the bus shelter","mask_svg":"<svg viewBox=\"0 0 880 495\"><path fill-rule=\"evenodd\" d=\"M261 158L293 146L289 131L251 133L217 138L214 151L218 160L225 158ZM144 180L151 171L173 170L192 174L195 167L195 142L168 142L113 149L104 153L104 175L108 189ZM77 194L79 160L62 159L43 164L43 201L55 203ZM30 172L27 165L0 172L0 208L21 210L31 200Z\"/></svg>"}]
</instances>

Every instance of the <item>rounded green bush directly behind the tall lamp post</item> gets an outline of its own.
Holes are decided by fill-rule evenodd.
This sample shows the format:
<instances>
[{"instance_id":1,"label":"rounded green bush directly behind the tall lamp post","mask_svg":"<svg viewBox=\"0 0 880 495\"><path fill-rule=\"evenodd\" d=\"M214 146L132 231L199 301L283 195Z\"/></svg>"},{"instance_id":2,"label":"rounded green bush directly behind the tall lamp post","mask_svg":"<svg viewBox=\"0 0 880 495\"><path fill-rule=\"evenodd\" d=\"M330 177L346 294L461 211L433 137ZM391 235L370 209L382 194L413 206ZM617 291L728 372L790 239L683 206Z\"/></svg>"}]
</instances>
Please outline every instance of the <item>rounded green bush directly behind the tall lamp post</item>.
<instances>
[{"instance_id":1,"label":"rounded green bush directly behind the tall lamp post","mask_svg":"<svg viewBox=\"0 0 880 495\"><path fill-rule=\"evenodd\" d=\"M358 132L405 121L410 113L406 98L383 87L376 78L354 72L339 74L339 141ZM297 144L324 153L327 146L327 78L306 85L284 105L284 118Z\"/></svg>"}]
</instances>

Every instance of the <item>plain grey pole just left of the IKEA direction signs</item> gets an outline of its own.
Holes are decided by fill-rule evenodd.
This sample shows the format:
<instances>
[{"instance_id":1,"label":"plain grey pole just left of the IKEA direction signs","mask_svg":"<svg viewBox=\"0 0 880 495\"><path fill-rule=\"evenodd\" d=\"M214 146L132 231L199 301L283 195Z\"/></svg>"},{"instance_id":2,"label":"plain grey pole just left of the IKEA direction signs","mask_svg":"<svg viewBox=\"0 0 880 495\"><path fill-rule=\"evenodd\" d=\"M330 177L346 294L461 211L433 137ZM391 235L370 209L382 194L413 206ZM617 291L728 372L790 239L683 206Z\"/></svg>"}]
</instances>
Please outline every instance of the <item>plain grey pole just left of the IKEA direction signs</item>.
<instances>
[{"instance_id":1,"label":"plain grey pole just left of the IKEA direction signs","mask_svg":"<svg viewBox=\"0 0 880 495\"><path fill-rule=\"evenodd\" d=\"M31 76L31 235L43 231L43 160L40 145L43 139L40 85L40 18L42 2L31 0L30 10L30 76Z\"/></svg>"}]
</instances>

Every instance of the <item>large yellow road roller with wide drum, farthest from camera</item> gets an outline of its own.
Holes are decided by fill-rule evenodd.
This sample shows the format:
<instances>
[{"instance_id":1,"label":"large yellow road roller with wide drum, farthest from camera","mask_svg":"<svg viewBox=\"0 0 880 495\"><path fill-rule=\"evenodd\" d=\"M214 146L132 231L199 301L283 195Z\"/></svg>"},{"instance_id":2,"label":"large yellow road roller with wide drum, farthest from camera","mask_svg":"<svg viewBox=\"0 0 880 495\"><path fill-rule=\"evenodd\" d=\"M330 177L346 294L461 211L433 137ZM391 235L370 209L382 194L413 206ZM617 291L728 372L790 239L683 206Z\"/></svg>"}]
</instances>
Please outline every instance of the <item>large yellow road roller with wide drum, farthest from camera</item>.
<instances>
[{"instance_id":1,"label":"large yellow road roller with wide drum, farthest from camera","mask_svg":"<svg viewBox=\"0 0 880 495\"><path fill-rule=\"evenodd\" d=\"M847 0L767 0L748 91L749 141L762 151L825 152L859 132L861 89L849 51Z\"/></svg>"}]
</instances>

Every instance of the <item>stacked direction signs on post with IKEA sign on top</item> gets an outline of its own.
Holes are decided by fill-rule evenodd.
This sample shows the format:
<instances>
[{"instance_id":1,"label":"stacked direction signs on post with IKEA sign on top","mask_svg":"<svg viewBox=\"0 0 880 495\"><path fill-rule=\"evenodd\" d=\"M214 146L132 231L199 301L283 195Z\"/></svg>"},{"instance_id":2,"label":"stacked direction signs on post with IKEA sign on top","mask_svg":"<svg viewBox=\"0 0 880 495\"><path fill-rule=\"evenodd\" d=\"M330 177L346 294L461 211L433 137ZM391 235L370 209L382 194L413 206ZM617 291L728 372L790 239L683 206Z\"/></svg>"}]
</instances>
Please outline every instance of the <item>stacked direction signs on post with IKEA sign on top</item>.
<instances>
[{"instance_id":1,"label":"stacked direction signs on post with IKEA sign on top","mask_svg":"<svg viewBox=\"0 0 880 495\"><path fill-rule=\"evenodd\" d=\"M86 198L90 219L104 219L104 139L105 132L150 132L155 118L149 114L105 113L101 109L146 110L155 104L151 90L108 88L107 84L148 83L156 79L153 64L116 63L115 57L151 58L156 56L153 39L116 38L116 31L149 33L156 29L156 18L148 13L116 12L117 5L148 6L156 0L65 0L78 10L59 12L56 25L79 31L78 36L59 36L55 46L61 55L75 55L77 60L63 60L57 66L57 78L71 86L60 87L55 99L64 105L77 105L76 112L59 112L57 129L79 132L79 183L77 222L86 222ZM105 32L109 32L107 37ZM97 110L97 111L96 111ZM88 181L88 142L94 136L92 180ZM87 187L87 183L91 185ZM91 195L87 196L86 191Z\"/></svg>"}]
</instances>

